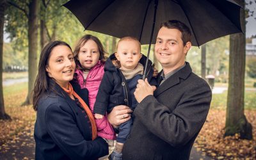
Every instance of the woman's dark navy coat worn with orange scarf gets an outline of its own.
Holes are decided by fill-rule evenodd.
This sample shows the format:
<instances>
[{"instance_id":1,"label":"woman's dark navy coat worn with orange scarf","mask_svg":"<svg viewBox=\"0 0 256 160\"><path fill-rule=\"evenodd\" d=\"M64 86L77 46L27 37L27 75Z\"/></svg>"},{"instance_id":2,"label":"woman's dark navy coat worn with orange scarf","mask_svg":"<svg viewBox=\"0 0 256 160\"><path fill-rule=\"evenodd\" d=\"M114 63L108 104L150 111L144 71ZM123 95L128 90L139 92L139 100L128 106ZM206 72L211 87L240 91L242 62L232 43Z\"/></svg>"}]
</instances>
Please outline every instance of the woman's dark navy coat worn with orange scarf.
<instances>
[{"instance_id":1,"label":"woman's dark navy coat worn with orange scarf","mask_svg":"<svg viewBox=\"0 0 256 160\"><path fill-rule=\"evenodd\" d=\"M88 104L88 90L72 84ZM58 84L58 94L40 99L35 123L35 159L97 159L108 154L108 143L98 137L92 141L90 120ZM88 123L89 122L89 123Z\"/></svg>"}]
</instances>

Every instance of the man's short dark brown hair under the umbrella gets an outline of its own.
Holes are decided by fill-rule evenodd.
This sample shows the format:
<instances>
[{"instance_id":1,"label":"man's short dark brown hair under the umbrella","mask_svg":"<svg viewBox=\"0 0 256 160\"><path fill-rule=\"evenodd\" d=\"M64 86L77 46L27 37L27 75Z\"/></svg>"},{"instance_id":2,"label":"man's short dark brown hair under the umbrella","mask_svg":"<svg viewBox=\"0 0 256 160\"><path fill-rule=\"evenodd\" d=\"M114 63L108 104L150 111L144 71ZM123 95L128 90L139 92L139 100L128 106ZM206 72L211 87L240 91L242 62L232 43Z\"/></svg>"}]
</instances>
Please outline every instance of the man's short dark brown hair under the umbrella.
<instances>
[{"instance_id":1,"label":"man's short dark brown hair under the umbrella","mask_svg":"<svg viewBox=\"0 0 256 160\"><path fill-rule=\"evenodd\" d=\"M166 27L168 29L178 29L182 36L182 42L183 45L185 46L187 42L191 42L191 32L188 26L186 24L180 22L179 20L168 20L165 22L162 22L160 25L160 28Z\"/></svg>"}]
</instances>

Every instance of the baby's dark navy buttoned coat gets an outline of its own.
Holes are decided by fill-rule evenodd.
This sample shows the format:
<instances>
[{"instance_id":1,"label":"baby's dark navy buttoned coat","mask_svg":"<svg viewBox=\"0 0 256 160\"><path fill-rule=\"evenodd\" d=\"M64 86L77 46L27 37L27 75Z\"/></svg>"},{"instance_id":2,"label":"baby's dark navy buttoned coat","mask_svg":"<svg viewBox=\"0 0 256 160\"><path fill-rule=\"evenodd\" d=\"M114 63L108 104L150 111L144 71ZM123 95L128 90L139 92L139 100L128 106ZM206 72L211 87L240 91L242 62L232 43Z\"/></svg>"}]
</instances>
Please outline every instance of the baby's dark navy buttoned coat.
<instances>
[{"instance_id":1,"label":"baby's dark navy buttoned coat","mask_svg":"<svg viewBox=\"0 0 256 160\"><path fill-rule=\"evenodd\" d=\"M111 112L115 106L125 105L131 108L131 96L129 87L124 75L118 67L113 65L112 60L115 60L115 54L111 54L106 61L104 67L104 76L99 86L96 102L94 104L94 113L104 115L106 111ZM140 59L141 65L145 68L147 57L142 55ZM152 62L148 60L146 77L151 85L156 85L156 79L153 76ZM108 106L108 107L107 107Z\"/></svg>"}]
</instances>

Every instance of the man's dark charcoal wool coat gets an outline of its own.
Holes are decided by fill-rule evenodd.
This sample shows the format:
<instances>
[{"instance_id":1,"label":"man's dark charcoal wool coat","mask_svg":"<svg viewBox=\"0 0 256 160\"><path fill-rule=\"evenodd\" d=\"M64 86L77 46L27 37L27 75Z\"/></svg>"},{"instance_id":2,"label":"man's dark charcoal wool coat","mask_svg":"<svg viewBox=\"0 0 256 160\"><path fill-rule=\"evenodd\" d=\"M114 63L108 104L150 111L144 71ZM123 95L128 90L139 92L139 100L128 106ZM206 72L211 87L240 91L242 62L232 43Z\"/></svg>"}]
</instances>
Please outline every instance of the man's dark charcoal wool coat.
<instances>
[{"instance_id":1,"label":"man's dark charcoal wool coat","mask_svg":"<svg viewBox=\"0 0 256 160\"><path fill-rule=\"evenodd\" d=\"M123 159L189 159L209 111L211 95L209 85L186 63L155 90L154 96L148 95L134 109Z\"/></svg>"}]
</instances>

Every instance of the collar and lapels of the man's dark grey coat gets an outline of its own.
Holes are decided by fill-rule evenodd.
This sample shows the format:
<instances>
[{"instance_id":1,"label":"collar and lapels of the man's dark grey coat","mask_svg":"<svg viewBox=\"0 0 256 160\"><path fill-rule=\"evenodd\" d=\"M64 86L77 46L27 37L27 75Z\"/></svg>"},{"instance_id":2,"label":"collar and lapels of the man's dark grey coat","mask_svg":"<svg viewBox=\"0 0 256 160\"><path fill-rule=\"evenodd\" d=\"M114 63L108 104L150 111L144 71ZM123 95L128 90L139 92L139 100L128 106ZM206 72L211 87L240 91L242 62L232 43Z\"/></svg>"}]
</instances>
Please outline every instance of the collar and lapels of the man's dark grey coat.
<instances>
[{"instance_id":1,"label":"collar and lapels of the man's dark grey coat","mask_svg":"<svg viewBox=\"0 0 256 160\"><path fill-rule=\"evenodd\" d=\"M180 69L178 72L176 72L171 77L166 79L163 82L163 84L158 86L158 88L154 92L154 97L159 96L164 91L168 90L169 88L172 88L176 84L179 84L180 83L180 78L181 79L186 79L189 76L189 74L191 74L191 72L192 72L192 69L191 69L189 63L186 62L186 66L184 68ZM161 82L161 76L160 75L161 75L161 72L159 73L159 76L157 78L158 84L160 84L160 82Z\"/></svg>"}]
</instances>

